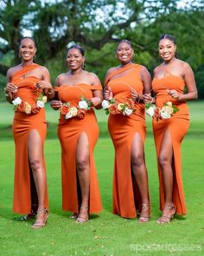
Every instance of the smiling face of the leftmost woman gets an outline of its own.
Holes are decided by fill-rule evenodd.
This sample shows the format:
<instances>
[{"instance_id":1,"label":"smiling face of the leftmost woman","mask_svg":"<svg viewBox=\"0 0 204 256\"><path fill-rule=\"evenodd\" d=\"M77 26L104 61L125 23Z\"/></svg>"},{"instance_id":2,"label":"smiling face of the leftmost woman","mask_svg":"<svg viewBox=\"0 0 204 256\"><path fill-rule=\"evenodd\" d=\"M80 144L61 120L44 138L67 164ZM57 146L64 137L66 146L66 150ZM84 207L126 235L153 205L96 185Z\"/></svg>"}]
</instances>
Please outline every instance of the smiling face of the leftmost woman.
<instances>
[{"instance_id":1,"label":"smiling face of the leftmost woman","mask_svg":"<svg viewBox=\"0 0 204 256\"><path fill-rule=\"evenodd\" d=\"M33 40L29 38L22 39L22 42L19 47L19 56L22 57L22 60L25 62L33 61L35 58L36 48Z\"/></svg>"}]
</instances>

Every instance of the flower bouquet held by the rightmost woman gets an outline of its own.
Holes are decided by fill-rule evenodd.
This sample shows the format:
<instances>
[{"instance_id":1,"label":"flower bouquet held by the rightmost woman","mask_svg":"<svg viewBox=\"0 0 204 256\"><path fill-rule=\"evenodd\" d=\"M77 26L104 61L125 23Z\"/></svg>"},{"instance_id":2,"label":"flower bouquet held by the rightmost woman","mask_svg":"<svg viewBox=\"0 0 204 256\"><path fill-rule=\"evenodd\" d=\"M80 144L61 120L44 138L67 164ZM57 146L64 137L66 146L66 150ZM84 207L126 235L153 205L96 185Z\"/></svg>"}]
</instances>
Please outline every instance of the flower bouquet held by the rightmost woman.
<instances>
[{"instance_id":1,"label":"flower bouquet held by the rightmost woman","mask_svg":"<svg viewBox=\"0 0 204 256\"><path fill-rule=\"evenodd\" d=\"M146 103L145 112L147 115L150 115L152 118L156 118L156 121L159 119L169 119L173 114L179 111L172 102L163 103L163 108L157 108L155 104Z\"/></svg>"}]
</instances>

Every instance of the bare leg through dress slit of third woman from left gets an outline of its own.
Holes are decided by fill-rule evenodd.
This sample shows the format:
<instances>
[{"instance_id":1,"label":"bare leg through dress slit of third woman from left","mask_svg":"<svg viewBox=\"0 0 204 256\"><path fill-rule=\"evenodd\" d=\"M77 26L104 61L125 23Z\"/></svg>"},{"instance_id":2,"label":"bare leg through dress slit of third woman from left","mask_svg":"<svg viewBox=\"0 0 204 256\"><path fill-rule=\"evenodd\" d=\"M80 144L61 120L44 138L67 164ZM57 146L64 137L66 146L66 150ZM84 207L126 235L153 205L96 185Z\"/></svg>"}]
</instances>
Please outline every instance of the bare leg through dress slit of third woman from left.
<instances>
[{"instance_id":1,"label":"bare leg through dress slit of third woman from left","mask_svg":"<svg viewBox=\"0 0 204 256\"><path fill-rule=\"evenodd\" d=\"M143 141L140 135L133 137L131 145L131 167L142 199L141 222L147 222L150 217L150 200L148 188L148 174L144 161ZM141 218L142 220L142 218Z\"/></svg>"}]
</instances>

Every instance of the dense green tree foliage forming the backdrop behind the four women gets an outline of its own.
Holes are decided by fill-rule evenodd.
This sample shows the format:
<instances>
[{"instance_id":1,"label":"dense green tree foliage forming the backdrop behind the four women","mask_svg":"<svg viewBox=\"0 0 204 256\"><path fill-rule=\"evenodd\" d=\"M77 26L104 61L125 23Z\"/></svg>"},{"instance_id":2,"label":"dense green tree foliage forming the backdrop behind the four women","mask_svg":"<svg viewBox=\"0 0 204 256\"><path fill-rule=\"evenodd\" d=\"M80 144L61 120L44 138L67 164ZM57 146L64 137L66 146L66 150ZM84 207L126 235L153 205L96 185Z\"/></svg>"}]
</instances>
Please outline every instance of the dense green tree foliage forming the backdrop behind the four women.
<instances>
[{"instance_id":1,"label":"dense green tree foliage forming the backdrop behind the four women","mask_svg":"<svg viewBox=\"0 0 204 256\"><path fill-rule=\"evenodd\" d=\"M74 42L86 48L87 66L104 76L105 69L115 63L115 43L121 38L131 40L138 62L153 69L159 61L157 41L165 33L175 35L182 59L201 73L204 3L203 0L184 0L184 6L180 3L180 0L1 1L0 74L5 75L11 65L19 62L19 43L28 30L37 44L37 62L46 63L51 70L54 67L54 75L62 69L68 43Z\"/></svg>"}]
</instances>

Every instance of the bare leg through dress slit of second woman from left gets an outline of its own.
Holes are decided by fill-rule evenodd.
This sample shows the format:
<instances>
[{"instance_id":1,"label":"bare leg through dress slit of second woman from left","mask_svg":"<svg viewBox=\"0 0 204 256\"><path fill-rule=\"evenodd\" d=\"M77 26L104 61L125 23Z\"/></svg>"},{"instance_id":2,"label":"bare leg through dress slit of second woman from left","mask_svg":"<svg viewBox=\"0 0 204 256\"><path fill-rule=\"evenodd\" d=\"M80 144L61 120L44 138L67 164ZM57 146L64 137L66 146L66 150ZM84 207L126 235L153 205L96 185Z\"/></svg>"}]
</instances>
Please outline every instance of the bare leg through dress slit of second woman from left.
<instances>
[{"instance_id":1,"label":"bare leg through dress slit of second woman from left","mask_svg":"<svg viewBox=\"0 0 204 256\"><path fill-rule=\"evenodd\" d=\"M85 133L80 135L76 150L77 174L80 181L81 206L77 222L88 220L90 192L89 141Z\"/></svg>"}]
</instances>

